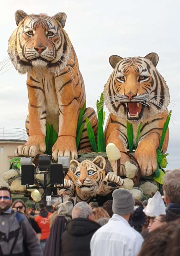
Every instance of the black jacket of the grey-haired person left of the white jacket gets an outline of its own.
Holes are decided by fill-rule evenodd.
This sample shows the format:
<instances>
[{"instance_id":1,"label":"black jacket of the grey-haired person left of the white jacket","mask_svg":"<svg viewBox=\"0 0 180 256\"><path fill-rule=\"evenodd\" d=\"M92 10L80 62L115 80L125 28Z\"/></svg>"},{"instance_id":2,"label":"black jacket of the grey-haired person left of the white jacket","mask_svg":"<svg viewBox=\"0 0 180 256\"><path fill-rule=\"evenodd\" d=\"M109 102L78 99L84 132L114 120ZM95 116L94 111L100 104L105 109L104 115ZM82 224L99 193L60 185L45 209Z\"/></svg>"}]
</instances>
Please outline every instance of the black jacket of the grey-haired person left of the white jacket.
<instances>
[{"instance_id":1,"label":"black jacket of the grey-haired person left of the white jacket","mask_svg":"<svg viewBox=\"0 0 180 256\"><path fill-rule=\"evenodd\" d=\"M75 218L68 222L61 236L62 256L90 256L90 241L101 226L87 218Z\"/></svg>"}]
</instances>

